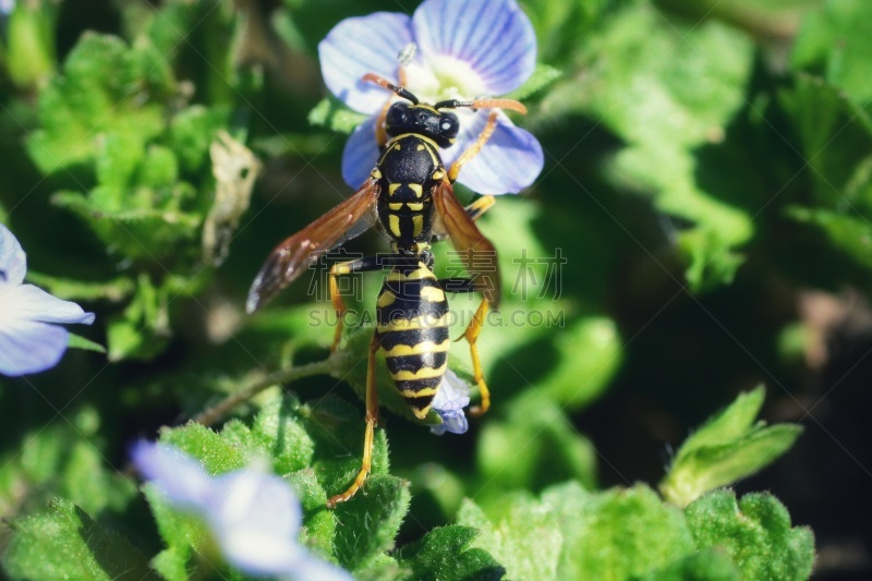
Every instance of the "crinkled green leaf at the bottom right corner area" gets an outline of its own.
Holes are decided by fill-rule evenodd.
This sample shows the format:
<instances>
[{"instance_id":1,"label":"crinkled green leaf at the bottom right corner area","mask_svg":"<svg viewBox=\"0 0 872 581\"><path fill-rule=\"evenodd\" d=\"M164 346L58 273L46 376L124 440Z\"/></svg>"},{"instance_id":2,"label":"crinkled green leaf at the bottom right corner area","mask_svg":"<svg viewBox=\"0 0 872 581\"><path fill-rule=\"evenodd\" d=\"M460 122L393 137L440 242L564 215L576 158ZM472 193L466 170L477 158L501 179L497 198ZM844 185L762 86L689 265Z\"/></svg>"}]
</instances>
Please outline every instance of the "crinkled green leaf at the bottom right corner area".
<instances>
[{"instance_id":1,"label":"crinkled green leaf at the bottom right corner area","mask_svg":"<svg viewBox=\"0 0 872 581\"><path fill-rule=\"evenodd\" d=\"M688 523L698 549L720 547L743 579L808 579L814 562L814 535L790 526L790 515L770 494L730 491L707 494L688 506Z\"/></svg>"}]
</instances>

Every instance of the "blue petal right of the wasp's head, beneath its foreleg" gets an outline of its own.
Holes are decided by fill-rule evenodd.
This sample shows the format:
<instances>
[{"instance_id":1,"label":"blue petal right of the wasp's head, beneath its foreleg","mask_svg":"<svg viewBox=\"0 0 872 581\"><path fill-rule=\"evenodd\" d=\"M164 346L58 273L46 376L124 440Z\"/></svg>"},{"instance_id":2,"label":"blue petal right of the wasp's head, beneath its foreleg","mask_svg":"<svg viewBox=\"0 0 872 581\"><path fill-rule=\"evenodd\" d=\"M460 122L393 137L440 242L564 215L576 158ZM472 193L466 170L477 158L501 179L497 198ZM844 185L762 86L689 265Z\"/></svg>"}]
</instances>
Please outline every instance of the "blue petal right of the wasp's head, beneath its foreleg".
<instances>
[{"instance_id":1,"label":"blue petal right of the wasp's head, beneath its foreleg","mask_svg":"<svg viewBox=\"0 0 872 581\"><path fill-rule=\"evenodd\" d=\"M451 148L457 148L450 152L452 158L469 146L473 136L481 133L486 120L487 113L480 111L475 121L468 122L462 138L459 136L458 144ZM529 131L514 126L500 113L494 134L479 155L463 166L457 181L483 195L517 194L536 180L543 165L544 157L538 141Z\"/></svg>"}]
</instances>

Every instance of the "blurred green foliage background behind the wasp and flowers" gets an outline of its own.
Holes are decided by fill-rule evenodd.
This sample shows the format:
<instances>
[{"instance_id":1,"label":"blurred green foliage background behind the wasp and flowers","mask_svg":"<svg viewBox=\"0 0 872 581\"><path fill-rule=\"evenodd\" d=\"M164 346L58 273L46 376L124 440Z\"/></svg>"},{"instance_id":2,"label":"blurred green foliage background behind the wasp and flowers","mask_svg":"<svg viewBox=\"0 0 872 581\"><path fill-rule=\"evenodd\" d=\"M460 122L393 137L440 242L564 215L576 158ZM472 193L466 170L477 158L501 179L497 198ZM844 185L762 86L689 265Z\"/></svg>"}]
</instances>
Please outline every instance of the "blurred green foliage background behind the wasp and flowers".
<instances>
[{"instance_id":1,"label":"blurred green foliage background behind the wasp and flowers","mask_svg":"<svg viewBox=\"0 0 872 581\"><path fill-rule=\"evenodd\" d=\"M385 413L413 492L398 543L463 496L653 485L694 426L763 384L762 417L806 432L738 492L771 491L814 530L819 578L872 573L872 3L521 5L542 66L519 123L546 161L480 221L506 287L480 339L493 409L440 438ZM31 281L97 314L73 330L108 352L0 378L0 516L60 495L154 544L118 475L130 443L327 356L332 329L311 310L329 302L310 281L253 318L244 298L276 243L350 194L342 131L358 118L323 101L317 43L342 17L414 8L20 0L4 16L0 221ZM213 173L216 141L230 178ZM351 303L372 308L379 285L365 277ZM288 389L362 414L350 383Z\"/></svg>"}]
</instances>

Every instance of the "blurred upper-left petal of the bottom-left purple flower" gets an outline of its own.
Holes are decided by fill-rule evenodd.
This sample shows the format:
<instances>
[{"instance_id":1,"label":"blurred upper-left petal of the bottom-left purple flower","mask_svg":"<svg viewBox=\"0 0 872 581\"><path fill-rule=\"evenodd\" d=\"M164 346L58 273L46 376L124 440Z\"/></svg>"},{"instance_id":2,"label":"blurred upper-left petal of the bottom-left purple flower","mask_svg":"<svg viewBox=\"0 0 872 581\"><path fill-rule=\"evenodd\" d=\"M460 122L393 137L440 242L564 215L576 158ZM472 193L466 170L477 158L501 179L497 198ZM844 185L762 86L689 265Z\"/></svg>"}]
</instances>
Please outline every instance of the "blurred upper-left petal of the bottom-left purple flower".
<instances>
[{"instance_id":1,"label":"blurred upper-left petal of the bottom-left purple flower","mask_svg":"<svg viewBox=\"0 0 872 581\"><path fill-rule=\"evenodd\" d=\"M148 441L137 443L131 457L143 476L171 501L191 508L204 506L213 482L192 457L172 446Z\"/></svg>"}]
</instances>

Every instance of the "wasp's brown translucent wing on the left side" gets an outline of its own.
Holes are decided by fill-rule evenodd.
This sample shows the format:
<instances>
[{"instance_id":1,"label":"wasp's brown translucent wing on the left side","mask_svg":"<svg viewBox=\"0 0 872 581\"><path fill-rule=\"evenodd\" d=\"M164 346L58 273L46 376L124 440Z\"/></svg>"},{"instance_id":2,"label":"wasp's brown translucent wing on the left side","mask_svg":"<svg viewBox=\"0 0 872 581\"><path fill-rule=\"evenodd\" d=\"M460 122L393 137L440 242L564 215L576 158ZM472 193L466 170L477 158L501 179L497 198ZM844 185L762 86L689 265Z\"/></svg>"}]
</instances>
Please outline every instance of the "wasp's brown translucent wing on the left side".
<instances>
[{"instance_id":1,"label":"wasp's brown translucent wing on the left side","mask_svg":"<svg viewBox=\"0 0 872 581\"><path fill-rule=\"evenodd\" d=\"M370 179L337 207L276 246L252 282L245 311L254 313L325 253L365 232L377 218L380 187Z\"/></svg>"}]
</instances>

